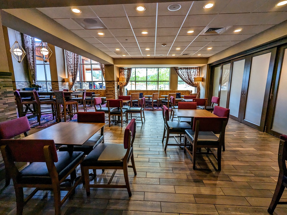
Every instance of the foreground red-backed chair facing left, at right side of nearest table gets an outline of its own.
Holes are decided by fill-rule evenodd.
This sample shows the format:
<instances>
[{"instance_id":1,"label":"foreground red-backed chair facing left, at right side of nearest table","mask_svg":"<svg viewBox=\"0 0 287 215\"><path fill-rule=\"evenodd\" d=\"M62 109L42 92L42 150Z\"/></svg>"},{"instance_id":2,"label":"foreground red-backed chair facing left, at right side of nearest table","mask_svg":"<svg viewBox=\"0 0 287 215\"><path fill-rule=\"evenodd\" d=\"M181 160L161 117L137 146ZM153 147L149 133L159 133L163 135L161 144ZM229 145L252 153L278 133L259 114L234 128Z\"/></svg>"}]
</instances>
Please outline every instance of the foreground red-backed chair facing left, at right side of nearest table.
<instances>
[{"instance_id":1,"label":"foreground red-backed chair facing left, at right side of nearest table","mask_svg":"<svg viewBox=\"0 0 287 215\"><path fill-rule=\"evenodd\" d=\"M128 167L133 168L136 175L135 161L133 157L133 142L135 140L135 119L132 119L125 128L123 144L101 143L96 146L88 154L82 163L85 175L85 187L87 195L90 195L90 188L127 188L129 196L131 196L131 188L129 185ZM129 161L131 160L131 166ZM89 169L114 170L108 184L90 184L88 177ZM123 170L125 185L111 184L117 170Z\"/></svg>"}]
</instances>

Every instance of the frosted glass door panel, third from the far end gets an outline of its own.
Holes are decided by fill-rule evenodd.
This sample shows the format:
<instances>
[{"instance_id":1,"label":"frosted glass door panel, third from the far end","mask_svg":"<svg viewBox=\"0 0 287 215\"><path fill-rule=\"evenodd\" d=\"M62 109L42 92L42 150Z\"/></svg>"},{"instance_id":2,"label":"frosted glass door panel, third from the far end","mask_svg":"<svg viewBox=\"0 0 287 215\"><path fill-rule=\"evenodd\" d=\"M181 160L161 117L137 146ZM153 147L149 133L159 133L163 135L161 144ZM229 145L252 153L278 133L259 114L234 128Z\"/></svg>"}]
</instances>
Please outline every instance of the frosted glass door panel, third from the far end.
<instances>
[{"instance_id":1,"label":"frosted glass door panel, third from the far end","mask_svg":"<svg viewBox=\"0 0 287 215\"><path fill-rule=\"evenodd\" d=\"M233 62L230 85L229 109L230 115L238 117L242 90L245 59Z\"/></svg>"}]
</instances>

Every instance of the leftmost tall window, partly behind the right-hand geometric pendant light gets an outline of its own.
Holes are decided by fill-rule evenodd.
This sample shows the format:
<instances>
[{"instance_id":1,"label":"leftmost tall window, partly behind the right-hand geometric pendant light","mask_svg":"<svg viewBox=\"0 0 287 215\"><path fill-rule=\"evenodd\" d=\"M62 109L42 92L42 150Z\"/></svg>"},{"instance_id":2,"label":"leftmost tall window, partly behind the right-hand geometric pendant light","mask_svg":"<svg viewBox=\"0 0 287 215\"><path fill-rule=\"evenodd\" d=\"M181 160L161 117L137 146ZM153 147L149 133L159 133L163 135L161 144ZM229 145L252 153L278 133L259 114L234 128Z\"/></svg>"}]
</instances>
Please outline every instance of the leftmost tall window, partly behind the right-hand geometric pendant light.
<instances>
[{"instance_id":1,"label":"leftmost tall window, partly behind the right-hand geometric pendant light","mask_svg":"<svg viewBox=\"0 0 287 215\"><path fill-rule=\"evenodd\" d=\"M41 40L35 38L36 50L40 45ZM47 63L38 55L36 51L36 82L42 86L41 91L49 91L52 89L51 73L49 60Z\"/></svg>"}]
</instances>

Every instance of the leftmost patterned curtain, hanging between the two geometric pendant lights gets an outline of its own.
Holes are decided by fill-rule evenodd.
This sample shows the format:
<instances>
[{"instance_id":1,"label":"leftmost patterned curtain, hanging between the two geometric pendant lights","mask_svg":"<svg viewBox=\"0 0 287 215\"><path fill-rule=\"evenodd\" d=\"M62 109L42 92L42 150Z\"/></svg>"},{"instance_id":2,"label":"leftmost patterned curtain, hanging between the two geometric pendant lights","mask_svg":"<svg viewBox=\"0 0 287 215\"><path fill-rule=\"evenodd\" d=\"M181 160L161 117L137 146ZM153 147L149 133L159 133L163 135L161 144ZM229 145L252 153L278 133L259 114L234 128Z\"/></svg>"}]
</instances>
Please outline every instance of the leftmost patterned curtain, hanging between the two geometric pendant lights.
<instances>
[{"instance_id":1,"label":"leftmost patterned curtain, hanging between the two geometric pendant lights","mask_svg":"<svg viewBox=\"0 0 287 215\"><path fill-rule=\"evenodd\" d=\"M22 34L24 41L24 48L27 54L27 61L29 72L32 76L33 82L36 83L36 45L35 38L29 35Z\"/></svg>"}]
</instances>

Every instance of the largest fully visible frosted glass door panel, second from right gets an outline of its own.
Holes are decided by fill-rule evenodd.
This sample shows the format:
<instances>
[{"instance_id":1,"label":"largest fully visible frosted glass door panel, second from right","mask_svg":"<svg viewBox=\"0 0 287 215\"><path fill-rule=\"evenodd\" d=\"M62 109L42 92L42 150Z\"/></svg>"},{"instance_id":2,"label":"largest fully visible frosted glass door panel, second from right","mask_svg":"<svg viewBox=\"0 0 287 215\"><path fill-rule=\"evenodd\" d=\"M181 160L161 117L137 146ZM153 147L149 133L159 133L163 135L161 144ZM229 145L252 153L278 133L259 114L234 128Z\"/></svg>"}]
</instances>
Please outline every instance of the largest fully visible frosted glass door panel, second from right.
<instances>
[{"instance_id":1,"label":"largest fully visible frosted glass door panel, second from right","mask_svg":"<svg viewBox=\"0 0 287 215\"><path fill-rule=\"evenodd\" d=\"M260 126L271 52L252 57L244 120Z\"/></svg>"}]
</instances>

